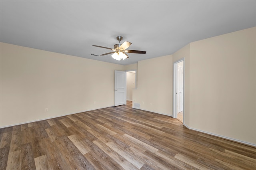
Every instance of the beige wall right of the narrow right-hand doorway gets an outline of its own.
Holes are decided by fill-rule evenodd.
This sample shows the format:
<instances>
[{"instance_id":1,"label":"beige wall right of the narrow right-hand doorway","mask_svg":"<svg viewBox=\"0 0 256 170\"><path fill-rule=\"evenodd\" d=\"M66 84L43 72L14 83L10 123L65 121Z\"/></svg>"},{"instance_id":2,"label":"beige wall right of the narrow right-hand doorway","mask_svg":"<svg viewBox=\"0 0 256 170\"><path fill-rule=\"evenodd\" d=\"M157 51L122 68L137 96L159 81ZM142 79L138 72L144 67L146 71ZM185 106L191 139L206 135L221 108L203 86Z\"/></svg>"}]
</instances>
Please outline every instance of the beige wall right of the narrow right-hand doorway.
<instances>
[{"instance_id":1,"label":"beige wall right of the narrow right-hand doorway","mask_svg":"<svg viewBox=\"0 0 256 170\"><path fill-rule=\"evenodd\" d=\"M190 128L256 144L256 27L190 43L189 97Z\"/></svg>"}]
</instances>

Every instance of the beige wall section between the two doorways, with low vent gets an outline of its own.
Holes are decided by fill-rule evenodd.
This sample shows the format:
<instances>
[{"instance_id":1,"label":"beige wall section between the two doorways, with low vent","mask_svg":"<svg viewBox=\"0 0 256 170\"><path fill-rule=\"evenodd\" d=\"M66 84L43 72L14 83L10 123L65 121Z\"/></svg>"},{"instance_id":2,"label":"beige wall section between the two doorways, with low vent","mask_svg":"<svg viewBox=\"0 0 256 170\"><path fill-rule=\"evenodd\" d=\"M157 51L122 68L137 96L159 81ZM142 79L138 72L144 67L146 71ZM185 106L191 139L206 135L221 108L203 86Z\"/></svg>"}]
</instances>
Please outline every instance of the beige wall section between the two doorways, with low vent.
<instances>
[{"instance_id":1,"label":"beige wall section between the two doorways, with low vent","mask_svg":"<svg viewBox=\"0 0 256 170\"><path fill-rule=\"evenodd\" d=\"M133 102L140 109L172 115L172 55L138 61Z\"/></svg>"}]
</instances>

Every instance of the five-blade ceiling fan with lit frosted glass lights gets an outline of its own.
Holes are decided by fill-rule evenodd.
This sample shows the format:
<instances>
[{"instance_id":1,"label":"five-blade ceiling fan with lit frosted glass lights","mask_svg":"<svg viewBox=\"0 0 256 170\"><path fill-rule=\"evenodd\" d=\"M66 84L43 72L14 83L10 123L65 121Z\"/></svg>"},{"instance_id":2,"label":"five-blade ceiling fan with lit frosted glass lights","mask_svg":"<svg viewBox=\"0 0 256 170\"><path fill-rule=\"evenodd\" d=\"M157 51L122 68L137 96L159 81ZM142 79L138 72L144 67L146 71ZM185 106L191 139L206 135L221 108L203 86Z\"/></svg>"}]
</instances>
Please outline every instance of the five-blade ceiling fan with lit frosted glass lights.
<instances>
[{"instance_id":1,"label":"five-blade ceiling fan with lit frosted glass lights","mask_svg":"<svg viewBox=\"0 0 256 170\"><path fill-rule=\"evenodd\" d=\"M92 45L94 47L100 47L100 48L106 48L106 49L110 49L113 52L110 53L104 53L102 55L108 55L108 54L112 54L111 56L116 59L121 61L122 59L126 59L129 58L128 55L126 53L138 53L138 54L146 54L146 51L138 51L138 50L127 50L127 48L132 44L130 42L125 41L124 43L120 43L121 40L123 40L122 36L118 36L116 37L116 39L119 41L118 44L114 45L114 49L112 48L108 48L108 47L102 47L99 45Z\"/></svg>"}]
</instances>

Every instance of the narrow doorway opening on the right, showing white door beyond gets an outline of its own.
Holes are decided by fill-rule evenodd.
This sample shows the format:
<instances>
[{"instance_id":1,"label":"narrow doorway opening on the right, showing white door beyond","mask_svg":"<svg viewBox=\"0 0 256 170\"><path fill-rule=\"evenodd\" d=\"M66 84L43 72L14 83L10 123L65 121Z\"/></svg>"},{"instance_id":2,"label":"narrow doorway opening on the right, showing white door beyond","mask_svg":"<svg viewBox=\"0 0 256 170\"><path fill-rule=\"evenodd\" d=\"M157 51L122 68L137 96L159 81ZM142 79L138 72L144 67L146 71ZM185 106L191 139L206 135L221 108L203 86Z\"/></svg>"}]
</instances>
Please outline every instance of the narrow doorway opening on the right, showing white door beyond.
<instances>
[{"instance_id":1,"label":"narrow doorway opening on the right, showing white door beyond","mask_svg":"<svg viewBox=\"0 0 256 170\"><path fill-rule=\"evenodd\" d=\"M174 63L173 117L184 120L184 58Z\"/></svg>"}]
</instances>

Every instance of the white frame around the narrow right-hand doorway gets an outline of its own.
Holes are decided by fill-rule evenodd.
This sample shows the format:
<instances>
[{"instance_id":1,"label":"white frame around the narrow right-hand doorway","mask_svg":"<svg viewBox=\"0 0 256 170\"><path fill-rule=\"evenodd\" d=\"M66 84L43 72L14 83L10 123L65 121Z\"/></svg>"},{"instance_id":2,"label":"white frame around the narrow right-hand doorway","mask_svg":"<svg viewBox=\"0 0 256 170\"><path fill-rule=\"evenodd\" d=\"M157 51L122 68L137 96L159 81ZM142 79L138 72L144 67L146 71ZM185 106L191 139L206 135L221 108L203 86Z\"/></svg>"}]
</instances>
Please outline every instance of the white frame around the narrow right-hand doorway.
<instances>
[{"instance_id":1,"label":"white frame around the narrow right-hand doorway","mask_svg":"<svg viewBox=\"0 0 256 170\"><path fill-rule=\"evenodd\" d=\"M185 111L184 111L184 97L185 97L185 93L184 93L184 73L185 73L185 58L181 58L177 61L175 61L173 63L173 101L172 101L172 117L173 118L177 118L177 107L178 107L178 103L177 103L177 79L178 79L178 63L183 61L183 124L184 124L184 116L185 116Z\"/></svg>"}]
</instances>

